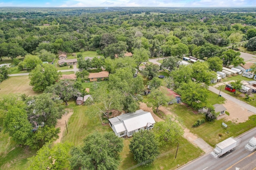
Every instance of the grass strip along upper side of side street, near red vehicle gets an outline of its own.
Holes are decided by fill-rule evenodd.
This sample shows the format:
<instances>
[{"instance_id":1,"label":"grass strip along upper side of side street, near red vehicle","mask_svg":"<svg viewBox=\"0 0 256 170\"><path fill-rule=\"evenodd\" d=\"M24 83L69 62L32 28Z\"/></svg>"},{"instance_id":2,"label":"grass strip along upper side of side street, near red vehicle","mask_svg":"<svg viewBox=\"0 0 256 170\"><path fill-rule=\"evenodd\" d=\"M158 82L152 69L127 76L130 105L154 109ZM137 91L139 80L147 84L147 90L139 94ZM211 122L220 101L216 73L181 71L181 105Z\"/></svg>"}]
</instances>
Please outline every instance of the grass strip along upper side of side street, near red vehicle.
<instances>
[{"instance_id":1,"label":"grass strip along upper side of side street, near red vehicle","mask_svg":"<svg viewBox=\"0 0 256 170\"><path fill-rule=\"evenodd\" d=\"M221 86L219 86L217 89L220 90ZM246 102L247 104L250 104L254 107L256 107L256 94L250 94L250 100L246 100L246 96L245 94L237 91L236 94L235 93L232 93L232 92L229 92L228 90L225 90L225 85L222 86L221 88L221 92L223 93L226 93L234 98L237 98L243 102Z\"/></svg>"}]
</instances>

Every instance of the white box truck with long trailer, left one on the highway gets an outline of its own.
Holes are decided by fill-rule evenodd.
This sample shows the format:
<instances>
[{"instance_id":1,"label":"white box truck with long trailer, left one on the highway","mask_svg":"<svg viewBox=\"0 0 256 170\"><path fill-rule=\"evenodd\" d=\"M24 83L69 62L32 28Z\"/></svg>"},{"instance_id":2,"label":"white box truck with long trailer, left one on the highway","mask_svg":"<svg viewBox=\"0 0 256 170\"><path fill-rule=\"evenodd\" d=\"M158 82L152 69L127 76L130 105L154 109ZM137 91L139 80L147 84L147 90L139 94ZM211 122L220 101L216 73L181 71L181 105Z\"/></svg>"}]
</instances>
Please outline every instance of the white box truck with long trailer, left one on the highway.
<instances>
[{"instance_id":1,"label":"white box truck with long trailer, left one on the highway","mask_svg":"<svg viewBox=\"0 0 256 170\"><path fill-rule=\"evenodd\" d=\"M214 158L220 157L225 153L230 152L233 150L236 146L239 145L240 140L236 140L232 137L222 141L221 143L218 143L215 147L215 149L211 152L211 155L214 156Z\"/></svg>"}]
</instances>

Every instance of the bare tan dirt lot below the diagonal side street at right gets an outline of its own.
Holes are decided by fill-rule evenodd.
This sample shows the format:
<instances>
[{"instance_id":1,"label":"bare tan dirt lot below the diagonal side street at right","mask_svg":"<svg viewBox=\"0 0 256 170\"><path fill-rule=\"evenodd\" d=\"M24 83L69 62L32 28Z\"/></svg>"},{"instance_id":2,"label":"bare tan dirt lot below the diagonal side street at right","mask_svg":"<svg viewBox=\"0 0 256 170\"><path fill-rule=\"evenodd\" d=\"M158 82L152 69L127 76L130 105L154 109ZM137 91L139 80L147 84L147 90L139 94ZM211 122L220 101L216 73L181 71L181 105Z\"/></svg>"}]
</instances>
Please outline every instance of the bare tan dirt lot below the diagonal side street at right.
<instances>
[{"instance_id":1,"label":"bare tan dirt lot below the diagonal side street at right","mask_svg":"<svg viewBox=\"0 0 256 170\"><path fill-rule=\"evenodd\" d=\"M242 123L248 120L248 117L254 115L251 111L247 110L244 107L235 104L230 100L226 100L223 104L226 107L226 111L230 114L229 116L225 117L226 121L232 121L234 123Z\"/></svg>"}]
</instances>

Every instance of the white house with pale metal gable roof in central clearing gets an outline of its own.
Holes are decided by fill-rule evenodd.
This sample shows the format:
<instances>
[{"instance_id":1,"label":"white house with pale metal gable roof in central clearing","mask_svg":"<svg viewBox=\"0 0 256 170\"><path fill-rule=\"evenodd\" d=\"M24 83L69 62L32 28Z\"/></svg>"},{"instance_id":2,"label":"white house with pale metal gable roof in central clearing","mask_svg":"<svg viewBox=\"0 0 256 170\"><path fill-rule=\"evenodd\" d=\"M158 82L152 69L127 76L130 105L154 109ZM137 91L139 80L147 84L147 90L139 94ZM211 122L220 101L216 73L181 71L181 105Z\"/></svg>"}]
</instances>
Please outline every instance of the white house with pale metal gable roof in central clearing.
<instances>
[{"instance_id":1,"label":"white house with pale metal gable roof in central clearing","mask_svg":"<svg viewBox=\"0 0 256 170\"><path fill-rule=\"evenodd\" d=\"M132 136L139 130L152 129L156 121L151 113L142 109L108 119L110 127L118 137Z\"/></svg>"}]
</instances>

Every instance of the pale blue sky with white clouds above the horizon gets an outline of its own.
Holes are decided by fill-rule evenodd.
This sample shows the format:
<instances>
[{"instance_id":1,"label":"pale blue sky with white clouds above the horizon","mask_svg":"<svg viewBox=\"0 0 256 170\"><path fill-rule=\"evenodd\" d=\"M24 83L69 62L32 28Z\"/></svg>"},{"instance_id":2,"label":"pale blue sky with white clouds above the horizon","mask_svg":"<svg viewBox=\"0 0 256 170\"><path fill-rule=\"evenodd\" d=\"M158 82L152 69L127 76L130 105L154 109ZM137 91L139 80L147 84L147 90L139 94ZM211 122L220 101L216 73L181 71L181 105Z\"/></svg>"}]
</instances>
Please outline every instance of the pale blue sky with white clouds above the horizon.
<instances>
[{"instance_id":1,"label":"pale blue sky with white clouds above the horizon","mask_svg":"<svg viewBox=\"0 0 256 170\"><path fill-rule=\"evenodd\" d=\"M252 7L256 0L0 0L2 6L26 7Z\"/></svg>"}]
</instances>

